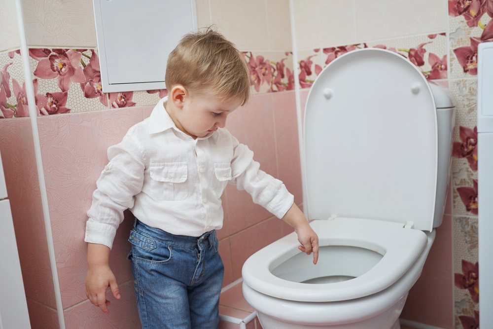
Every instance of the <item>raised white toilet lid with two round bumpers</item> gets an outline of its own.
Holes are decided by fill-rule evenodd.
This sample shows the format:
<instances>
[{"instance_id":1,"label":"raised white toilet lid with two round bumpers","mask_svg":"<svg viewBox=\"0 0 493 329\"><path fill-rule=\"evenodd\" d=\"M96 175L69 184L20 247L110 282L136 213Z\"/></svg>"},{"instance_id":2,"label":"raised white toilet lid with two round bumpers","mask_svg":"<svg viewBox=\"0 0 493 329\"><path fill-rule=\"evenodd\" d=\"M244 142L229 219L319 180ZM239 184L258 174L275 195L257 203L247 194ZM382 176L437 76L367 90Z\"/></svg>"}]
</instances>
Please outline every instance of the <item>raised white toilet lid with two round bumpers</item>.
<instances>
[{"instance_id":1,"label":"raised white toilet lid with two round bumpers","mask_svg":"<svg viewBox=\"0 0 493 329\"><path fill-rule=\"evenodd\" d=\"M304 123L310 219L412 221L431 231L436 109L411 62L378 48L344 54L317 76Z\"/></svg>"}]
</instances>

